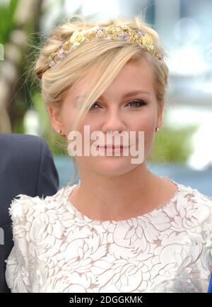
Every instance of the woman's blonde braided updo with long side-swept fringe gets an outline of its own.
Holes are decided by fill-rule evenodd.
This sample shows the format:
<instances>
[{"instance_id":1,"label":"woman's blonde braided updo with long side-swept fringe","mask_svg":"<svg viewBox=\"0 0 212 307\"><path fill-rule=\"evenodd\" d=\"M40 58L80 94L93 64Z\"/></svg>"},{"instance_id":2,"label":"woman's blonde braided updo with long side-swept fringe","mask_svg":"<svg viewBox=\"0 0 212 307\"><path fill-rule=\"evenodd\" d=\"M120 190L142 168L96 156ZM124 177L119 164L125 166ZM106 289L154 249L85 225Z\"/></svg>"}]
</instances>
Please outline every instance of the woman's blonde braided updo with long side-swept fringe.
<instances>
[{"instance_id":1,"label":"woman's blonde braided updo with long side-swept fringe","mask_svg":"<svg viewBox=\"0 0 212 307\"><path fill-rule=\"evenodd\" d=\"M158 33L153 28L150 28L140 16L135 16L131 20L125 17L113 18L101 23L86 21L82 16L73 17L80 20L66 22L52 31L40 51L34 68L35 75L41 79L43 101L46 105L58 108L61 107L75 82L86 76L88 72L95 72L90 78L86 95L78 101L71 130L78 130L90 106L102 95L127 62L137 62L141 59L148 61L153 69L153 85L158 104L160 106L164 104L168 77L168 68L164 59L167 55L159 43ZM68 40L74 31L85 30L97 25L100 27L118 26L120 23L134 30L140 30L143 34L151 35L153 44L163 56L163 60L157 60L145 48L124 40L90 40L75 50L71 50L58 65L47 69L50 62L49 55L56 52L59 45ZM73 159L73 162L75 175L71 182L76 179L78 172L76 160Z\"/></svg>"}]
</instances>

